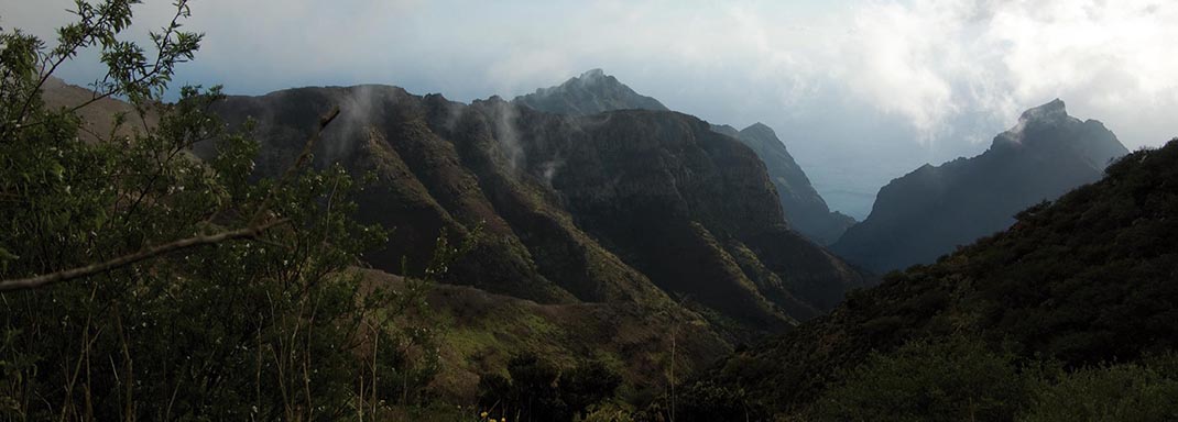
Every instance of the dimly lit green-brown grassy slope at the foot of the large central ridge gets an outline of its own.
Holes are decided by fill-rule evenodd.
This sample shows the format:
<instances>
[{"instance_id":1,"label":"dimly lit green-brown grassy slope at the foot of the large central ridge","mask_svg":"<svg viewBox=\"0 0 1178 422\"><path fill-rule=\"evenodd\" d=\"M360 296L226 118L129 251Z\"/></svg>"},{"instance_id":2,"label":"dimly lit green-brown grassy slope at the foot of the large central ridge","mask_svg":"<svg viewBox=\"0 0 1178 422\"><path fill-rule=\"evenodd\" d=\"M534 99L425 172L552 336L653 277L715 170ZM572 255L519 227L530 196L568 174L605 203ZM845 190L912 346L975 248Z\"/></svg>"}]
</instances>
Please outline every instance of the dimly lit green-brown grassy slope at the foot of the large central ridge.
<instances>
[{"instance_id":1,"label":"dimly lit green-brown grassy slope at the foot of the large central ridge","mask_svg":"<svg viewBox=\"0 0 1178 422\"><path fill-rule=\"evenodd\" d=\"M362 272L370 286L405 289L398 276ZM541 304L449 284L434 286L426 302L428 315L409 315L406 326L438 333L445 364L430 390L448 403L475 403L479 377L505 373L508 361L523 354L561 366L605 362L628 384L659 389L667 383L671 359L681 374L691 374L732 351L702 321L651 313L633 302Z\"/></svg>"}]
</instances>

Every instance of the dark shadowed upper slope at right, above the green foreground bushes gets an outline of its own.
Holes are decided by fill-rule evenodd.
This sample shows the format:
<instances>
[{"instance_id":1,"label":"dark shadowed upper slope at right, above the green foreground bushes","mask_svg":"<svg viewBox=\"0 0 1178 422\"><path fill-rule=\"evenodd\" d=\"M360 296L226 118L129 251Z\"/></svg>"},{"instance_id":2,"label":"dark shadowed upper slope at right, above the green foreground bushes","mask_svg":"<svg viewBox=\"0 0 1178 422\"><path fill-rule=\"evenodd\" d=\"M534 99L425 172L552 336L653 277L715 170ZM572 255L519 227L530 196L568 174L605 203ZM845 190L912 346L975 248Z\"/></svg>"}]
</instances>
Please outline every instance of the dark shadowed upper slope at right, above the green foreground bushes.
<instances>
[{"instance_id":1,"label":"dark shadowed upper slope at right, above the green foreground bushes","mask_svg":"<svg viewBox=\"0 0 1178 422\"><path fill-rule=\"evenodd\" d=\"M1044 110L1052 109L1032 113ZM1035 123L1028 123L1032 135ZM1172 357L1178 348L1172 323L1178 319L1176 192L1178 140L1134 152L1111 165L1099 182L1031 207L1011 228L937 263L892 273L882 284L848 295L828 315L736 353L701 380L747 391L749 403L770 413L795 413L845 386L847 370L873 354L893 354L914 341L974 339L993 350L986 353L1043 361L1065 373ZM1162 374L1178 376L1178 367L1166 368ZM991 369L971 376L985 377ZM932 386L915 388L939 394ZM1137 387L1107 388L1121 394ZM882 393L893 394L893 404L901 397Z\"/></svg>"}]
</instances>

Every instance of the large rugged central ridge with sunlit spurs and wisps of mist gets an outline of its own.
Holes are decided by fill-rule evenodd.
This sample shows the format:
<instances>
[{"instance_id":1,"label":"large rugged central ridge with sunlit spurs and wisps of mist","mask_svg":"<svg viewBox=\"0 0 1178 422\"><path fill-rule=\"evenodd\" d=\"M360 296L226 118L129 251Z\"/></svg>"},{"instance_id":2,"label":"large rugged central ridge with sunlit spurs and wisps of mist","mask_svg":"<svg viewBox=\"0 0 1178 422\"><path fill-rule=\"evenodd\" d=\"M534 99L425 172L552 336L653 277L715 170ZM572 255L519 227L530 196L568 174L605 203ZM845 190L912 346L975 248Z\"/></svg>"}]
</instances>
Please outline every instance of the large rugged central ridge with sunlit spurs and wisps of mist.
<instances>
[{"instance_id":1,"label":"large rugged central ridge with sunlit spurs and wisps of mist","mask_svg":"<svg viewBox=\"0 0 1178 422\"><path fill-rule=\"evenodd\" d=\"M439 230L481 226L450 282L541 303L687 307L733 336L785 329L865 283L786 227L749 148L689 115L560 115L385 86L234 96L217 112L258 121L258 168L272 174L333 105L316 163L375 175L360 216L395 228L366 256L376 268L401 273L402 256L426 262Z\"/></svg>"}]
</instances>

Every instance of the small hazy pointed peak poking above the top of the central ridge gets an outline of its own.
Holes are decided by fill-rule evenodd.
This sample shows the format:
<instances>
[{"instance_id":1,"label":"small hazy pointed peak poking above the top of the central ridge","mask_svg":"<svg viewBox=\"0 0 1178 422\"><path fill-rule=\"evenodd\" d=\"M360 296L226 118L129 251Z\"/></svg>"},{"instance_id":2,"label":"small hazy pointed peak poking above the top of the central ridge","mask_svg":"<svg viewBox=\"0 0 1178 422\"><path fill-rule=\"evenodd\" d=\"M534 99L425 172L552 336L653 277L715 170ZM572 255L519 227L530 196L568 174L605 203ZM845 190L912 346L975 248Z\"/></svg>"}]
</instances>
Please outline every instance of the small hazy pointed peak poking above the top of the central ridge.
<instances>
[{"instance_id":1,"label":"small hazy pointed peak poking above the top of the central ridge","mask_svg":"<svg viewBox=\"0 0 1178 422\"><path fill-rule=\"evenodd\" d=\"M659 100L634 92L602 69L590 69L560 86L536 89L511 102L558 114L594 114L616 109L667 110Z\"/></svg>"}]
</instances>

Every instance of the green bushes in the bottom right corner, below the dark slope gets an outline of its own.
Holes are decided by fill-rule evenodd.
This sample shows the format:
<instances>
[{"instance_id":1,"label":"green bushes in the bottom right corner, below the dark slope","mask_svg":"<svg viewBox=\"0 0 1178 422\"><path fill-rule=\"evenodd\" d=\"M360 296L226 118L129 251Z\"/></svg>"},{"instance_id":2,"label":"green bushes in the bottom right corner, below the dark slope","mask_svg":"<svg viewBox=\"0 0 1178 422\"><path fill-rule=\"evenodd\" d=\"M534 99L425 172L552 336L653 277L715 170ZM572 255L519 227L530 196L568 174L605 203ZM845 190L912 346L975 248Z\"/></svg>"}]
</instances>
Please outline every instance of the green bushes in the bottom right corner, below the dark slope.
<instances>
[{"instance_id":1,"label":"green bushes in the bottom right corner, below the dark slope","mask_svg":"<svg viewBox=\"0 0 1178 422\"><path fill-rule=\"evenodd\" d=\"M827 390L815 421L1171 421L1176 355L1066 371L961 336L875 354Z\"/></svg>"}]
</instances>

